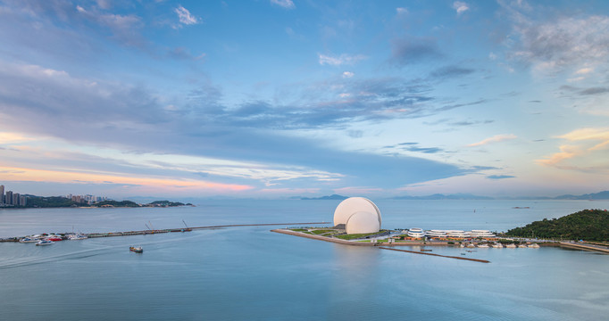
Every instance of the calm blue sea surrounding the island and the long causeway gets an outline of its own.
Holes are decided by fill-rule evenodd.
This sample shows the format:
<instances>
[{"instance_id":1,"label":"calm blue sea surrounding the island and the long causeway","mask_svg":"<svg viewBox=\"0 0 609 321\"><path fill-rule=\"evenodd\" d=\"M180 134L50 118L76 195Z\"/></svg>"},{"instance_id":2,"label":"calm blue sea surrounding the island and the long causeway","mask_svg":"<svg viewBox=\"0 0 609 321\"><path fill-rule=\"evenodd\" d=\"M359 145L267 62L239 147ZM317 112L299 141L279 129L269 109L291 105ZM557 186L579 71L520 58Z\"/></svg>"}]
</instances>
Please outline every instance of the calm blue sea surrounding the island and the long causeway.
<instances>
[{"instance_id":1,"label":"calm blue sea surrounding the island and the long causeway","mask_svg":"<svg viewBox=\"0 0 609 321\"><path fill-rule=\"evenodd\" d=\"M506 231L579 210L609 209L607 201L373 201L388 229ZM609 315L609 255L557 247L432 248L490 261L485 264L270 231L331 222L338 203L222 200L176 208L0 210L0 238L184 224L285 224L50 246L0 243L0 319L601 320ZM131 245L144 252L130 252Z\"/></svg>"}]
</instances>

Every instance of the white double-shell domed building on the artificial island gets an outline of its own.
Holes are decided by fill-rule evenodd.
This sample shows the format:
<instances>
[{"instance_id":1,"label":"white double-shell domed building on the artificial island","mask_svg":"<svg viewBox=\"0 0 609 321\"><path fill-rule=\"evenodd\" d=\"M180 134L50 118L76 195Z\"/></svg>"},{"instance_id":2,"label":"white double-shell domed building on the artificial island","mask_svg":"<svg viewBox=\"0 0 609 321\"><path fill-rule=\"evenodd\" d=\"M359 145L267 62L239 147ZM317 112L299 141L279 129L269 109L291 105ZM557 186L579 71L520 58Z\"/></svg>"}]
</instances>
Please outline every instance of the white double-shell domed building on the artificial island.
<instances>
[{"instance_id":1,"label":"white double-shell domed building on the artificial island","mask_svg":"<svg viewBox=\"0 0 609 321\"><path fill-rule=\"evenodd\" d=\"M334 225L345 225L346 234L379 232L380 223L379 208L363 197L350 197L334 210Z\"/></svg>"}]
</instances>

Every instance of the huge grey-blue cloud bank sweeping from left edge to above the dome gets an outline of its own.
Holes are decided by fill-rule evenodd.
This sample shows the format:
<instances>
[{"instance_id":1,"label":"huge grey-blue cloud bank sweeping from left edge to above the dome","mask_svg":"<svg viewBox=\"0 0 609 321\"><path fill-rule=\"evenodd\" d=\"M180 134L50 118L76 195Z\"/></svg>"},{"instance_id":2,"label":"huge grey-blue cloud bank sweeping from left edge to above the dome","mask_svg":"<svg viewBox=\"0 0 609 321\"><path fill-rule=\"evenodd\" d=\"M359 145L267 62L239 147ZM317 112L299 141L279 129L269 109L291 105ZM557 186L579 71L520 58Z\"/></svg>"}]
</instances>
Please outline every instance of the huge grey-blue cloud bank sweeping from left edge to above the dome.
<instances>
[{"instance_id":1,"label":"huge grey-blue cloud bank sweeping from left edge to above the dome","mask_svg":"<svg viewBox=\"0 0 609 321\"><path fill-rule=\"evenodd\" d=\"M349 80L344 85L343 89L355 93L352 101L325 100L313 87L303 89L303 98L289 105L255 100L225 105L221 88L210 84L172 102L139 86L78 78L64 70L37 65L0 62L0 128L24 136L54 137L59 142L88 146L89 150L129 152L127 159L105 152L93 161L83 152L64 151L61 143L41 141L38 147L51 149L54 154L29 158L38 163L28 169L47 167L44 170L54 173L45 173L49 179L60 179L56 177L64 174L62 169L70 168L82 169L84 174L66 179L154 185L152 181L121 178L121 173L130 173L142 179L162 176L159 184L178 186L177 180L187 180L184 185L188 185L190 180L200 180L197 173L204 172L210 175L205 181L214 184L292 187L304 179L306 184L323 182L334 188L395 187L463 173L463 169L436 161L341 151L313 137L286 134L293 128L342 126L353 121L438 112L427 105L433 100L424 95L429 88L409 85L399 78ZM327 90L329 84L317 86ZM168 105L173 107L168 109ZM185 155L197 161L146 156L150 154ZM217 159L228 165L211 166L202 159ZM7 161L3 154L3 164ZM13 161L13 167L22 166L17 159ZM365 169L371 167L379 169L370 174ZM413 173L404 170L407 168L418 170Z\"/></svg>"}]
</instances>

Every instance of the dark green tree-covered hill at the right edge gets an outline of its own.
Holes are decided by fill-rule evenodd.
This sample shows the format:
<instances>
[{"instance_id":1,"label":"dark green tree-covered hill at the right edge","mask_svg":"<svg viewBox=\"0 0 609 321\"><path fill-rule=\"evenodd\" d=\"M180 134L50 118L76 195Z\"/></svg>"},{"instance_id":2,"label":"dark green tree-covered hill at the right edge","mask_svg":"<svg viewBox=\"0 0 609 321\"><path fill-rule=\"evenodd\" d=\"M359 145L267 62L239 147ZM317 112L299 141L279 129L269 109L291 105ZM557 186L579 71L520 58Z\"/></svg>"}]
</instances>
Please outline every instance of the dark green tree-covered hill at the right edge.
<instances>
[{"instance_id":1,"label":"dark green tree-covered hill at the right edge","mask_svg":"<svg viewBox=\"0 0 609 321\"><path fill-rule=\"evenodd\" d=\"M544 218L513 228L506 236L609 242L609 212L581 210L562 218Z\"/></svg>"}]
</instances>

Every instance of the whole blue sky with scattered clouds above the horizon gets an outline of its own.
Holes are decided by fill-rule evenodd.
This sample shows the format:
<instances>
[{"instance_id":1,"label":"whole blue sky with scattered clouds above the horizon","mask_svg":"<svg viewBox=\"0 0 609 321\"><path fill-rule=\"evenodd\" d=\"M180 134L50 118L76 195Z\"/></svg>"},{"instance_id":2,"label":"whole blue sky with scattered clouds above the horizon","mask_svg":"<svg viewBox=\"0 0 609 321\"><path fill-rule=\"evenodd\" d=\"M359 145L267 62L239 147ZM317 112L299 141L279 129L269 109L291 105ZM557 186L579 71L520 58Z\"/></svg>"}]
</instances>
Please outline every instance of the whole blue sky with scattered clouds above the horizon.
<instances>
[{"instance_id":1,"label":"whole blue sky with scattered clouds above the horizon","mask_svg":"<svg viewBox=\"0 0 609 321\"><path fill-rule=\"evenodd\" d=\"M0 0L16 193L609 186L609 2Z\"/></svg>"}]
</instances>

